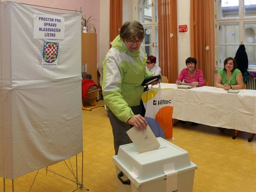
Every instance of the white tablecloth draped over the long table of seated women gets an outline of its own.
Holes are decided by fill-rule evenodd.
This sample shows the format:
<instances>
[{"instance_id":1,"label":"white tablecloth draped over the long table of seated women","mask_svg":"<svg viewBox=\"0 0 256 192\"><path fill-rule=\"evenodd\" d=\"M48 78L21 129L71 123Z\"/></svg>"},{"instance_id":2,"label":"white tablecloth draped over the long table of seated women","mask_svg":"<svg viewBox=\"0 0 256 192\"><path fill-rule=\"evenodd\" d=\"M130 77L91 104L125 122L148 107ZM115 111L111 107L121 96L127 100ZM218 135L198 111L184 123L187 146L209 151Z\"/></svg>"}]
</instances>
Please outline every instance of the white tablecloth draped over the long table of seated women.
<instances>
[{"instance_id":1,"label":"white tablecloth draped over the long table of seated women","mask_svg":"<svg viewBox=\"0 0 256 192\"><path fill-rule=\"evenodd\" d=\"M161 83L164 88L175 89L172 118L256 133L256 90L242 89L236 94L217 87L184 90Z\"/></svg>"}]
</instances>

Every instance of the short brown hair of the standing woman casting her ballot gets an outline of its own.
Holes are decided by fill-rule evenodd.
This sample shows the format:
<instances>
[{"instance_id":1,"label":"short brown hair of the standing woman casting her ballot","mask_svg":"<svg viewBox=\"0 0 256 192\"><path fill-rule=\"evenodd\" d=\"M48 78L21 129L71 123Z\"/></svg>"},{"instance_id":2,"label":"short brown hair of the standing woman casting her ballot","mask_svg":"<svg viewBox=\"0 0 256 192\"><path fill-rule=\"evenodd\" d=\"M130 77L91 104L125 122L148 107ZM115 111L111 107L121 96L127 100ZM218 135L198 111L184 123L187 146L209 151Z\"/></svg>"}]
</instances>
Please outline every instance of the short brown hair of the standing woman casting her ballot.
<instances>
[{"instance_id":1,"label":"short brown hair of the standing woman casting her ballot","mask_svg":"<svg viewBox=\"0 0 256 192\"><path fill-rule=\"evenodd\" d=\"M144 39L144 28L143 25L138 21L125 21L120 28L120 37L126 41L135 40L138 37L140 40Z\"/></svg>"}]
</instances>

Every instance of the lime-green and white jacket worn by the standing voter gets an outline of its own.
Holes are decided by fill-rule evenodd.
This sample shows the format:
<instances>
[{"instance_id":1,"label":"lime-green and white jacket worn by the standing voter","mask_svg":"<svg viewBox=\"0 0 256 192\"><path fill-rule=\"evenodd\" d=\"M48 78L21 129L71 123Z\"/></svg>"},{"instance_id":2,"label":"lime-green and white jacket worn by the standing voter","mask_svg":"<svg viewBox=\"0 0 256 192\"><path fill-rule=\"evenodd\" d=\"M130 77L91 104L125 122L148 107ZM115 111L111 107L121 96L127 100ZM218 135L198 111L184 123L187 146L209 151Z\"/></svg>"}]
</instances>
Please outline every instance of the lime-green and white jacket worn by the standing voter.
<instances>
[{"instance_id":1,"label":"lime-green and white jacket worn by the standing voter","mask_svg":"<svg viewBox=\"0 0 256 192\"><path fill-rule=\"evenodd\" d=\"M140 105L141 83L152 76L146 70L145 47L131 52L118 35L103 61L102 92L106 106L121 121L127 122L134 114L130 107Z\"/></svg>"}]
</instances>

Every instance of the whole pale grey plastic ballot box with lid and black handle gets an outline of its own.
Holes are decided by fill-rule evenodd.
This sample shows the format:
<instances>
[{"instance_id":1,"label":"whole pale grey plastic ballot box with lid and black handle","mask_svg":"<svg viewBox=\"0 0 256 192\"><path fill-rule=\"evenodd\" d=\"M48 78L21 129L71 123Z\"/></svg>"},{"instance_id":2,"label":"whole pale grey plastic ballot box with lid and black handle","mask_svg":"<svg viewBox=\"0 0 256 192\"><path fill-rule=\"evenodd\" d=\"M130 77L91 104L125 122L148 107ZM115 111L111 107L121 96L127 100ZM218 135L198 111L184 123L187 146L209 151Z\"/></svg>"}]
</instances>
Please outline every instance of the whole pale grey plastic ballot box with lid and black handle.
<instances>
[{"instance_id":1,"label":"whole pale grey plastic ballot box with lid and black handle","mask_svg":"<svg viewBox=\"0 0 256 192\"><path fill-rule=\"evenodd\" d=\"M160 147L139 153L134 144L119 147L113 156L118 192L192 192L196 164L188 152L158 137Z\"/></svg>"}]
</instances>

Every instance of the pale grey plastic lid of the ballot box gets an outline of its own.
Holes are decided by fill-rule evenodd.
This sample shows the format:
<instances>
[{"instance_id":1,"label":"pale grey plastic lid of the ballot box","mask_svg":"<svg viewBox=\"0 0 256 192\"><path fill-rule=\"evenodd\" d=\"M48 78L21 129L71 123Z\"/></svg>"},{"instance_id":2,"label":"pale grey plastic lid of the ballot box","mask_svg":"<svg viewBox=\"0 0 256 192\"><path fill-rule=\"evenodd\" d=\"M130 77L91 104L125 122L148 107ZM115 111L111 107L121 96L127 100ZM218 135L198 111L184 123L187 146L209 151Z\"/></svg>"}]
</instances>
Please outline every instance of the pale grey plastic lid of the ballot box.
<instances>
[{"instance_id":1,"label":"pale grey plastic lid of the ballot box","mask_svg":"<svg viewBox=\"0 0 256 192\"><path fill-rule=\"evenodd\" d=\"M134 182L141 184L165 177L164 165L174 164L175 171L183 172L196 168L189 159L188 152L171 142L158 137L160 147L156 150L139 153L133 143L119 147L113 162L128 177L135 172Z\"/></svg>"}]
</instances>

